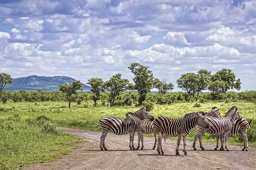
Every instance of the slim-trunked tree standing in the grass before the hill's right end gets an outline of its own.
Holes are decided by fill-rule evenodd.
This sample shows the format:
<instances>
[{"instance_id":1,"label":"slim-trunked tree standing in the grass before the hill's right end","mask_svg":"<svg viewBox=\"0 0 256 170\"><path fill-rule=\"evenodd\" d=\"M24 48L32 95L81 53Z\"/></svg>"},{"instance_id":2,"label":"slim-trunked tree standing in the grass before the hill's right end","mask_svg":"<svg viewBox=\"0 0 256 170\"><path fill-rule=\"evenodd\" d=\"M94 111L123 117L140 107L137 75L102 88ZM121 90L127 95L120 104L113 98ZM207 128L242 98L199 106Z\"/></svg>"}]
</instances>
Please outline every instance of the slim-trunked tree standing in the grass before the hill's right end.
<instances>
[{"instance_id":1,"label":"slim-trunked tree standing in the grass before the hill's right end","mask_svg":"<svg viewBox=\"0 0 256 170\"><path fill-rule=\"evenodd\" d=\"M70 103L71 103L71 96L72 94L77 94L77 90L83 90L82 89L82 83L80 81L74 81L72 84L64 84L60 85L60 91L64 93L69 101L68 107L70 108Z\"/></svg>"}]
</instances>

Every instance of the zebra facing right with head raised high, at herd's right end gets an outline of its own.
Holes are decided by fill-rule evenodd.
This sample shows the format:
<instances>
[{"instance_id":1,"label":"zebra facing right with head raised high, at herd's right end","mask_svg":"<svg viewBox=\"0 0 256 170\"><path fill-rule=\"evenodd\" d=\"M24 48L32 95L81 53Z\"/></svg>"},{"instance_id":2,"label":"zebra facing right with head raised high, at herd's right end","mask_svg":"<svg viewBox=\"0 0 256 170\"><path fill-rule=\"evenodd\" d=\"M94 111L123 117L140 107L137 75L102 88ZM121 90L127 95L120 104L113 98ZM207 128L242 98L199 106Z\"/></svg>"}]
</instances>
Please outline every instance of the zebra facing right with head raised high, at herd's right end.
<instances>
[{"instance_id":1,"label":"zebra facing right with head raised high, at herd's right end","mask_svg":"<svg viewBox=\"0 0 256 170\"><path fill-rule=\"evenodd\" d=\"M229 151L227 146L228 136L232 130L233 124L236 119L241 121L241 116L236 106L233 106L224 117L215 118L212 116L204 116L205 120L209 123L210 128L206 129L207 133L214 136L221 136L221 148L224 150L223 143L225 139L225 148Z\"/></svg>"}]
</instances>

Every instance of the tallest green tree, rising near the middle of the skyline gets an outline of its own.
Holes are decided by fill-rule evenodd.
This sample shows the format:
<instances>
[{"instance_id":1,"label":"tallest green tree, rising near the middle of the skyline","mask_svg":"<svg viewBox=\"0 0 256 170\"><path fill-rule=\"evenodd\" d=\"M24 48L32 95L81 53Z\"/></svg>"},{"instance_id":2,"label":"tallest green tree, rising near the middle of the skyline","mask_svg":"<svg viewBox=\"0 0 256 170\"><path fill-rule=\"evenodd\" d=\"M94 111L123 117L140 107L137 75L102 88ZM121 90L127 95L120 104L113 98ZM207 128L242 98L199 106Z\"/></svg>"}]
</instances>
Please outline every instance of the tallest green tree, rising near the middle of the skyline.
<instances>
[{"instance_id":1,"label":"tallest green tree, rising near the middle of the skyline","mask_svg":"<svg viewBox=\"0 0 256 170\"><path fill-rule=\"evenodd\" d=\"M145 101L148 92L153 88L154 77L148 66L140 65L139 63L132 63L128 69L135 75L133 81L135 83L134 89L140 94L139 105Z\"/></svg>"}]
</instances>

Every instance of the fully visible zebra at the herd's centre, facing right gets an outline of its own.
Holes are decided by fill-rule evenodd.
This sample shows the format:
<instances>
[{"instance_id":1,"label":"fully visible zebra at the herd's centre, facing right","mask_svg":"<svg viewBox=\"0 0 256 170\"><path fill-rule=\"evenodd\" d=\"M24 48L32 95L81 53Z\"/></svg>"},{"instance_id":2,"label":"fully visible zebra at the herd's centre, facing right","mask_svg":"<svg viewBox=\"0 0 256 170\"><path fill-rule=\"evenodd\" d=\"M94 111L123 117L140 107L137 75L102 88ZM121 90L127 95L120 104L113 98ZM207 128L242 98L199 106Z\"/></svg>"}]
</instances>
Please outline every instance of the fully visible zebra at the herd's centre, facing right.
<instances>
[{"instance_id":1,"label":"fully visible zebra at the herd's centre, facing right","mask_svg":"<svg viewBox=\"0 0 256 170\"><path fill-rule=\"evenodd\" d=\"M154 120L154 129L157 133L157 152L158 154L164 155L162 147L162 136L178 136L176 155L179 154L179 146L181 137L183 137L183 152L185 155L188 155L186 152L186 138L192 128L196 125L209 128L209 124L204 119L204 112L195 112L188 113L184 117L177 119L172 119L166 116L159 116ZM160 152L161 150L161 152Z\"/></svg>"}]
</instances>

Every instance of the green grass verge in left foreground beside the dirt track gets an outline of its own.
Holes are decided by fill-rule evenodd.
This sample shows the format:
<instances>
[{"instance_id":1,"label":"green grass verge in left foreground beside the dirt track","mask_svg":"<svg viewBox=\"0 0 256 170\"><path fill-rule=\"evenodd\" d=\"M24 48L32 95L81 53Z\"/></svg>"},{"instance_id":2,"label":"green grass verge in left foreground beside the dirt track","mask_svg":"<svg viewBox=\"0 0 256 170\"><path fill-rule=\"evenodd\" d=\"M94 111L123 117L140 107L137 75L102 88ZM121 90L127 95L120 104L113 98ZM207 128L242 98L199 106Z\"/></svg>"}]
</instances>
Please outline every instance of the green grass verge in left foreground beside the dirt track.
<instances>
[{"instance_id":1,"label":"green grass verge in left foreground beside the dirt track","mask_svg":"<svg viewBox=\"0 0 256 170\"><path fill-rule=\"evenodd\" d=\"M68 146L80 141L49 121L25 120L17 114L0 120L0 136L0 170L19 170L26 164L61 158L70 153Z\"/></svg>"}]
</instances>

